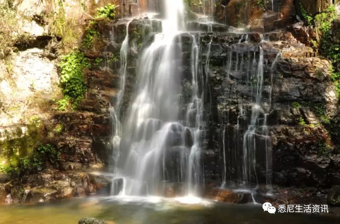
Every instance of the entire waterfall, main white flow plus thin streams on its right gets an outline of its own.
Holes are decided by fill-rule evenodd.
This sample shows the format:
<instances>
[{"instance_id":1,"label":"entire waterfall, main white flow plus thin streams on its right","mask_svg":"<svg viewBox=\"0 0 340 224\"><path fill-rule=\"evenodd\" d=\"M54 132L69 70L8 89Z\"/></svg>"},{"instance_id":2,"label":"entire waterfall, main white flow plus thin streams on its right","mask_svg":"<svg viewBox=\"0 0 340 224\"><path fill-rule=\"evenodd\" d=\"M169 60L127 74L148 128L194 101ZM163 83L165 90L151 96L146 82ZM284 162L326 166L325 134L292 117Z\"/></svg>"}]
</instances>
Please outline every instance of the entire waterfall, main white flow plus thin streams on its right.
<instances>
[{"instance_id":1,"label":"entire waterfall, main white flow plus thin streams on its right","mask_svg":"<svg viewBox=\"0 0 340 224\"><path fill-rule=\"evenodd\" d=\"M199 196L204 183L201 158L205 126L203 105L209 102L206 96L211 98L211 94L207 94L210 91L207 83L208 76L214 75L209 69L212 37L210 42L205 42L199 33L190 34L191 78L182 77L182 53L187 49L182 49L183 3L181 0L167 0L165 5L162 33L149 35L147 38L152 38L153 42L144 46L139 55L135 94L123 125L120 125L118 115L124 96L128 33L121 47L121 89L115 108L118 112L114 113L118 125L113 138L117 149L114 150L115 164L120 163L120 169L117 167L114 171L114 194L164 195L166 186L180 183L186 195ZM262 142L265 139L266 179L267 185L271 184L269 110L266 110L268 104L262 102L264 59L261 46L265 43L261 43L255 51L243 48L243 45L248 45L248 37L248 34L242 35L236 44L229 46L226 56L226 108L223 113L228 118L221 119L219 129L222 139L220 159L223 158L222 187L226 186L228 175L234 174L244 186L257 183L258 138ZM204 66L199 57L202 49L206 50ZM251 94L249 99L237 96L241 101L238 102L237 125L233 125L228 105L232 102L233 85L239 82L234 79L238 74L246 76L246 88ZM183 79L190 83L189 91L183 86ZM229 138L230 131L234 134Z\"/></svg>"}]
</instances>

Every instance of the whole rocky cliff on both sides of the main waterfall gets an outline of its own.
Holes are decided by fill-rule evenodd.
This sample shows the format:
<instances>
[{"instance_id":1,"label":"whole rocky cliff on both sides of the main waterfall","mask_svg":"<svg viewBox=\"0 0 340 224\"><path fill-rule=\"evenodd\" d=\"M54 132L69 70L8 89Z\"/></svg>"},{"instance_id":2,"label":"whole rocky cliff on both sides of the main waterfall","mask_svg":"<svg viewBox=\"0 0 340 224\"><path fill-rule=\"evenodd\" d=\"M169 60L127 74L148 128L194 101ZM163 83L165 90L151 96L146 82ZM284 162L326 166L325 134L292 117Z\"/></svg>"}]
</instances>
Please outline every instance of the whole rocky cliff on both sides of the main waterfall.
<instances>
[{"instance_id":1,"label":"whole rocky cliff on both sides of the main waterfall","mask_svg":"<svg viewBox=\"0 0 340 224\"><path fill-rule=\"evenodd\" d=\"M77 12L74 8L78 8L79 2L72 2L64 8L68 16ZM93 14L95 6L91 2L88 10ZM106 1L98 2L96 6ZM221 22L229 25L250 24L252 31L282 30L235 34L229 33L232 27L213 24L212 32L208 32L208 24L191 22L188 29L200 32L182 33L177 39L183 50L184 101L191 91L193 38L200 49L199 82L204 99L201 162L206 183L202 194L223 202L251 202L250 193L217 187L221 183L230 188L246 183L250 188L265 186L254 194L258 202L294 202L299 195L324 200L328 188L340 185L339 105L330 77L330 62L311 48L316 40L315 30L303 23L283 29L292 23L291 17L296 13L293 1L280 1L280 8L278 1L263 6L266 8L253 1L241 2L219 1L216 8L207 6L204 10L217 14ZM246 2L249 4L243 5ZM300 2L309 5L311 15L328 4ZM25 10L31 3L23 1L18 10L34 17L45 7L39 4L46 2L35 2L35 11ZM126 8L129 4L121 8L123 14L130 13L130 8ZM145 1L140 4L145 5ZM88 91L78 109L67 112L57 111L53 100L61 96L56 66L60 42L53 42L46 27L35 20L22 25L34 38L27 45L17 46L11 79L1 76L0 146L14 149L19 145L27 154L33 147L48 142L60 152L61 161L47 161L45 170L14 179L0 174L0 203L109 193L111 180L90 172L103 171L113 164L114 124L109 108L115 105L120 88L121 44L128 31L127 75L119 114L123 120L137 81L140 52L152 42L154 33L162 30L159 20L134 19L128 27L127 22L96 20L94 29L100 38L89 49L80 47L92 65L84 72ZM5 65L0 69L11 70ZM187 102L182 106L186 108ZM188 145L193 144L190 132L186 133L186 140ZM181 139L173 139L174 145L176 141ZM166 166L173 164L167 161ZM184 194L183 184L174 179L162 184L165 196ZM282 198L263 196L270 185ZM338 197L338 188L334 187L328 195L329 203L338 205ZM96 222L84 219L82 223Z\"/></svg>"}]
</instances>

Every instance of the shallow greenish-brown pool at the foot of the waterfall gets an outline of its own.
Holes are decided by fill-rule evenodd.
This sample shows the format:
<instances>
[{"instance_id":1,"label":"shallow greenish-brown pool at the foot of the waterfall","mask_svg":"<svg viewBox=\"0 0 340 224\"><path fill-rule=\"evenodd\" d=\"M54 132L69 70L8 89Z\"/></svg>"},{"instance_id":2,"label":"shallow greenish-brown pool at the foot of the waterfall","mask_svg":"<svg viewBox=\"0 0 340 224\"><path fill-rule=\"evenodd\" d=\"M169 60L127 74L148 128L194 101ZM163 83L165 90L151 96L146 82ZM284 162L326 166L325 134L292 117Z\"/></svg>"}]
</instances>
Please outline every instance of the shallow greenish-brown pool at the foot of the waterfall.
<instances>
[{"instance_id":1,"label":"shallow greenish-brown pool at the foot of the waterfall","mask_svg":"<svg viewBox=\"0 0 340 224\"><path fill-rule=\"evenodd\" d=\"M82 198L35 205L0 206L1 224L76 224L94 217L108 224L336 224L332 214L263 212L261 205L205 201L183 204L174 200Z\"/></svg>"}]
</instances>

